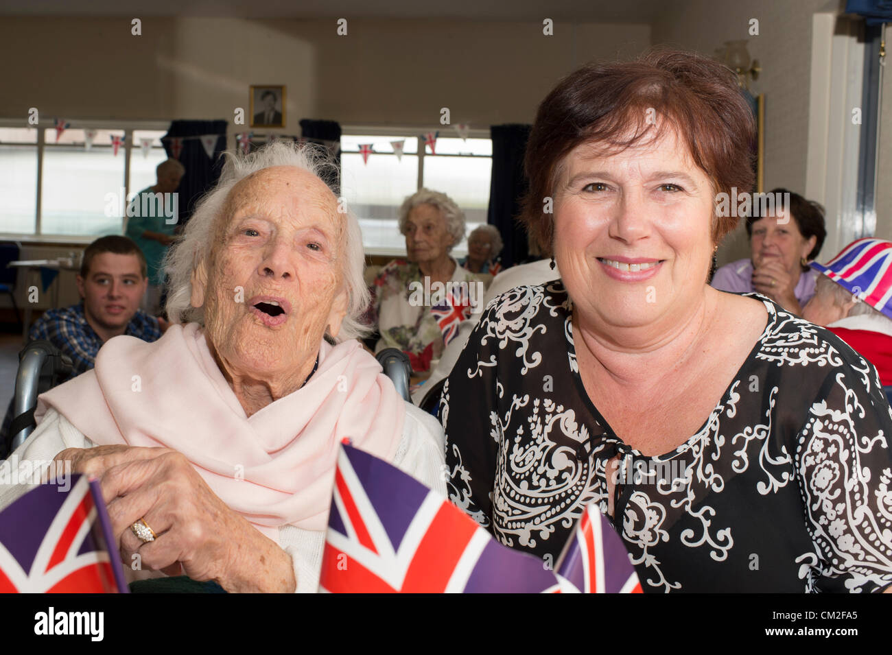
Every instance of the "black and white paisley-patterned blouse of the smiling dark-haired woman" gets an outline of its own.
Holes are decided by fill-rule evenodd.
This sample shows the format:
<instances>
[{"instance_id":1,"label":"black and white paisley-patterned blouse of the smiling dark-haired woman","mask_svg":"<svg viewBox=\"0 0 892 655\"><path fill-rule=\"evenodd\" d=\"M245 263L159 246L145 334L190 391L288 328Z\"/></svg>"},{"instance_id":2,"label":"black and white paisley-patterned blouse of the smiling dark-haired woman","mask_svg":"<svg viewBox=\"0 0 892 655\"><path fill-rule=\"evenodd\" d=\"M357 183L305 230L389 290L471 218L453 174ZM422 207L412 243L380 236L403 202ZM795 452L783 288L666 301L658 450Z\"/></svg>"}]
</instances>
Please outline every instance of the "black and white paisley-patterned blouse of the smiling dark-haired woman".
<instances>
[{"instance_id":1,"label":"black and white paisley-patterned blouse of the smiling dark-haired woman","mask_svg":"<svg viewBox=\"0 0 892 655\"><path fill-rule=\"evenodd\" d=\"M441 398L450 498L501 543L554 561L582 508L607 513L645 591L873 592L892 583L892 410L834 334L768 323L709 418L645 456L585 393L561 282L494 299ZM666 416L666 422L672 417Z\"/></svg>"}]
</instances>

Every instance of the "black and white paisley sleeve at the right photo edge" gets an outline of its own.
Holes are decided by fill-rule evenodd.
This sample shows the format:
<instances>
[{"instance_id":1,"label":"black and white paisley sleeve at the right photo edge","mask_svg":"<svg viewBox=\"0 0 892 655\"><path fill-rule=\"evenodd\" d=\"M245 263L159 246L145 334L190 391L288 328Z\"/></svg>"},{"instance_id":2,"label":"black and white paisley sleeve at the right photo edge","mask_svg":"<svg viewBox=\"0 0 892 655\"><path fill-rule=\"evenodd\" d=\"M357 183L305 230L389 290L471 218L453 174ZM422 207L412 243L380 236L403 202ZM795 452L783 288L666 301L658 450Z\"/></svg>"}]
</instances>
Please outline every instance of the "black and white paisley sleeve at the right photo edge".
<instances>
[{"instance_id":1,"label":"black and white paisley sleeve at the right photo edge","mask_svg":"<svg viewBox=\"0 0 892 655\"><path fill-rule=\"evenodd\" d=\"M814 553L797 561L809 591L877 592L892 584L892 409L876 369L840 346L799 433Z\"/></svg>"}]
</instances>

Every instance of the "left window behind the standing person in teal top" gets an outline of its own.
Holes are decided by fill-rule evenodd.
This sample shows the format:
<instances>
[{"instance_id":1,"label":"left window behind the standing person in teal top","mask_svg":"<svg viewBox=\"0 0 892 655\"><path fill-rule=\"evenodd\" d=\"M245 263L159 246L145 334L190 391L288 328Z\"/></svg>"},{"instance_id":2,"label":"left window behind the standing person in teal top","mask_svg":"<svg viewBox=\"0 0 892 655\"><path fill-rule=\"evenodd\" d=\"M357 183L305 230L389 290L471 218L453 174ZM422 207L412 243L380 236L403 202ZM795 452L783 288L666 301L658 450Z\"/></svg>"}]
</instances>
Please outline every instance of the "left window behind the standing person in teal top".
<instances>
[{"instance_id":1,"label":"left window behind the standing person in teal top","mask_svg":"<svg viewBox=\"0 0 892 655\"><path fill-rule=\"evenodd\" d=\"M126 207L121 199L154 184L155 167L167 158L161 147L166 125L72 121L57 139L55 128L45 127L50 122L44 119L39 128L0 126L0 233L120 234ZM95 132L89 148L87 129ZM124 139L117 155L112 136ZM145 154L143 138L152 139Z\"/></svg>"}]
</instances>

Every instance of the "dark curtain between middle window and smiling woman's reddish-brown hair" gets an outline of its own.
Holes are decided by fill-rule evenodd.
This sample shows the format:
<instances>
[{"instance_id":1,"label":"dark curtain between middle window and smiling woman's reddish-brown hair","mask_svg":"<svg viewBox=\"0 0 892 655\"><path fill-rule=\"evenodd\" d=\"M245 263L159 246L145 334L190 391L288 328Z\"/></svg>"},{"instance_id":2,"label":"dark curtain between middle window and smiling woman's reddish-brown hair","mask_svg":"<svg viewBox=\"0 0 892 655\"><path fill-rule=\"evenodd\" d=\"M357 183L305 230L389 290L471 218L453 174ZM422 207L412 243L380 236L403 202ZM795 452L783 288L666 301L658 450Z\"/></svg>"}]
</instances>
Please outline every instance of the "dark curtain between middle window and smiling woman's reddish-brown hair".
<instances>
[{"instance_id":1,"label":"dark curtain between middle window and smiling woman's reddish-brown hair","mask_svg":"<svg viewBox=\"0 0 892 655\"><path fill-rule=\"evenodd\" d=\"M524 153L530 138L528 125L494 125L492 139L492 176L490 209L487 223L501 233L504 248L502 266L514 266L529 258L526 230L516 217L529 186L524 175Z\"/></svg>"}]
</instances>

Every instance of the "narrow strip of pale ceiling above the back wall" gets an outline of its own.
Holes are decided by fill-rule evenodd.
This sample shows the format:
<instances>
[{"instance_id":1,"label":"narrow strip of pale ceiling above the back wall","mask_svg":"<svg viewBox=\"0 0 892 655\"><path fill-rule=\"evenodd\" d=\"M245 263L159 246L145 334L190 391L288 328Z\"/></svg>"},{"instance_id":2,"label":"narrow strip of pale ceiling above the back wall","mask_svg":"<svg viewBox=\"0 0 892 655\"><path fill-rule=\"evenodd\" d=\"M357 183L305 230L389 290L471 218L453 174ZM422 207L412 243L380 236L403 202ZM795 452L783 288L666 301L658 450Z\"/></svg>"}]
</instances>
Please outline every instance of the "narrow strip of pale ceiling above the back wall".
<instances>
[{"instance_id":1,"label":"narrow strip of pale ceiling above the back wall","mask_svg":"<svg viewBox=\"0 0 892 655\"><path fill-rule=\"evenodd\" d=\"M681 0L0 0L0 14L237 16L244 18L450 18L650 23Z\"/></svg>"}]
</instances>

